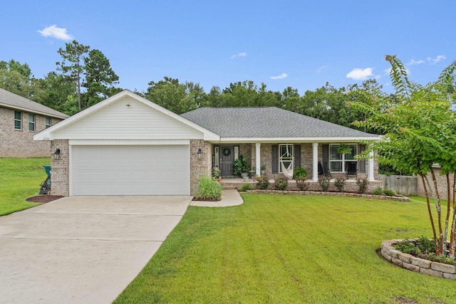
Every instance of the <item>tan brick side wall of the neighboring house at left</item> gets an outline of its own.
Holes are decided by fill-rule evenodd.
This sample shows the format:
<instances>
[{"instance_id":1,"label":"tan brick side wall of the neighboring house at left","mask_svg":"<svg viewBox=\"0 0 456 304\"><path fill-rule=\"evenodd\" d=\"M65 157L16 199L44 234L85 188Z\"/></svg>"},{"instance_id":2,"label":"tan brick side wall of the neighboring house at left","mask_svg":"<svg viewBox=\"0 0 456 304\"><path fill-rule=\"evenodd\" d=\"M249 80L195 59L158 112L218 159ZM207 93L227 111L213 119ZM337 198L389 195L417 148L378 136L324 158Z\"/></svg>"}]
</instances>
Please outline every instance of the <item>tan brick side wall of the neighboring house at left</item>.
<instances>
[{"instance_id":1,"label":"tan brick side wall of the neighboring house at left","mask_svg":"<svg viewBox=\"0 0 456 304\"><path fill-rule=\"evenodd\" d=\"M52 117L52 125L61 121ZM0 157L49 157L51 142L33 140L46 128L46 117L35 115L35 131L28 131L28 112L22 112L22 129L14 129L14 110L0 108Z\"/></svg>"}]
</instances>

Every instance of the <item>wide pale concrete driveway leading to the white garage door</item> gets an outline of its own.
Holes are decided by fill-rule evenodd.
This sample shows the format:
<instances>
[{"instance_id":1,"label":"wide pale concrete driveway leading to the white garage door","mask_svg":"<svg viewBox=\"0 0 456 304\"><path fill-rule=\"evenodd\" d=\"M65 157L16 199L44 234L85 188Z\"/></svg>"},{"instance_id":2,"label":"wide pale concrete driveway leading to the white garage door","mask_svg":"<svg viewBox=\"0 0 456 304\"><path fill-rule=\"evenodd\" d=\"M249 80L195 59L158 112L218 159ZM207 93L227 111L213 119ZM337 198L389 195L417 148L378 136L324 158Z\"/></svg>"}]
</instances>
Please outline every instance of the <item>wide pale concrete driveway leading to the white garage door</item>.
<instances>
[{"instance_id":1,"label":"wide pale concrete driveway leading to the white garage door","mask_svg":"<svg viewBox=\"0 0 456 304\"><path fill-rule=\"evenodd\" d=\"M111 303L191 196L72 196L0 216L0 303Z\"/></svg>"}]
</instances>

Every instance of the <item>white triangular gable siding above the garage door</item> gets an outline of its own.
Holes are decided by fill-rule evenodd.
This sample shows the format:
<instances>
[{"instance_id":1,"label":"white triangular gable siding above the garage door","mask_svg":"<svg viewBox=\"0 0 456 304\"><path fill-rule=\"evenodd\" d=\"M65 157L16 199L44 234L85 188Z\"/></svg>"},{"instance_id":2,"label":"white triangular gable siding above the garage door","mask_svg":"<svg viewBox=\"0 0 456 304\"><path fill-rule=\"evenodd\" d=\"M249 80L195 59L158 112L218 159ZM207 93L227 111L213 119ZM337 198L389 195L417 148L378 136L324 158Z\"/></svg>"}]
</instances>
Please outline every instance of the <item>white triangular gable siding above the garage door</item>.
<instances>
[{"instance_id":1,"label":"white triangular gable siding above the garage door","mask_svg":"<svg viewBox=\"0 0 456 304\"><path fill-rule=\"evenodd\" d=\"M68 127L54 139L202 139L203 134L130 97L111 103Z\"/></svg>"}]
</instances>

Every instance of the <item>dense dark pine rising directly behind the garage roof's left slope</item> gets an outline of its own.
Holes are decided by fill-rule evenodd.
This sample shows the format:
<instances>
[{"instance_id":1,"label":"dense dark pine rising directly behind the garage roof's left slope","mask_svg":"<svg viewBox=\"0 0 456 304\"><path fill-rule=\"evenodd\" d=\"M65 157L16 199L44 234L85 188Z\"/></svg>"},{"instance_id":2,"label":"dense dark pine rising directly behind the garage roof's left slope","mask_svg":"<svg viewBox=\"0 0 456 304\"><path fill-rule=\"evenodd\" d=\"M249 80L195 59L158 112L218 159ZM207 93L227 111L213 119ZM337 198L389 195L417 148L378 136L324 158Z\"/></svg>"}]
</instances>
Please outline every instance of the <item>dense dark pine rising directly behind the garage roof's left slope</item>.
<instances>
[{"instance_id":1,"label":"dense dark pine rising directly behind the garage roof's left slope","mask_svg":"<svg viewBox=\"0 0 456 304\"><path fill-rule=\"evenodd\" d=\"M101 100L117 93L114 84L118 83L119 76L114 73L108 58L99 50L91 50L84 57L84 75L81 86L86 88L83 94L83 108L99 103Z\"/></svg>"}]
</instances>

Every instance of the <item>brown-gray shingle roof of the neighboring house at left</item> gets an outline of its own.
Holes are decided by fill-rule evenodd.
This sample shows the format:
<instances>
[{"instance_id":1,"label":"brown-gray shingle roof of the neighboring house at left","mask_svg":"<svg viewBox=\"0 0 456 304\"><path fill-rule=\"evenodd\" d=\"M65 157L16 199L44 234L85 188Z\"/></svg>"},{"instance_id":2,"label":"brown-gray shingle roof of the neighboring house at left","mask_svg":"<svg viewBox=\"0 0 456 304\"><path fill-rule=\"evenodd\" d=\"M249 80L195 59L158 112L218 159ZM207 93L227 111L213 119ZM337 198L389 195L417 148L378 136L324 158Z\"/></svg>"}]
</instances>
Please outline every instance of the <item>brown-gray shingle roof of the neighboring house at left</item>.
<instances>
[{"instance_id":1,"label":"brown-gray shingle roof of the neighboring house at left","mask_svg":"<svg viewBox=\"0 0 456 304\"><path fill-rule=\"evenodd\" d=\"M63 114L62 112L48 108L46 105L35 103L34 101L28 100L27 98L16 95L2 88L0 88L0 106L11 109L26 110L36 114L63 119L68 117L68 115Z\"/></svg>"}]
</instances>

